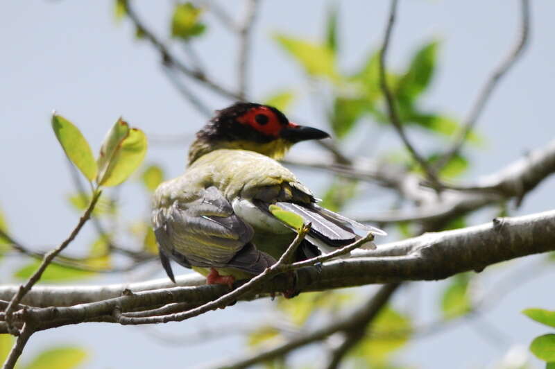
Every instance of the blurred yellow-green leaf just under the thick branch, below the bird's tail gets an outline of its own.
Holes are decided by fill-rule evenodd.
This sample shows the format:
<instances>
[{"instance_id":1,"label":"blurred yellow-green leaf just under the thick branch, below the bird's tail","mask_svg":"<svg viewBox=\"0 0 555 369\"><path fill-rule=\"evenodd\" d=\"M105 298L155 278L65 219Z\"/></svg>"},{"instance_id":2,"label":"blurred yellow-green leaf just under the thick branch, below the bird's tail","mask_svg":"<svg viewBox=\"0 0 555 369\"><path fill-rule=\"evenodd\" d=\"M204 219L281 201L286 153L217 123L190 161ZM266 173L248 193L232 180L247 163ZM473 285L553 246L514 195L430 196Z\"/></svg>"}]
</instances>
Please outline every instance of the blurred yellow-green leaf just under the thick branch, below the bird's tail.
<instances>
[{"instance_id":1,"label":"blurred yellow-green leaf just under the thick branch, below the bird's tail","mask_svg":"<svg viewBox=\"0 0 555 369\"><path fill-rule=\"evenodd\" d=\"M278 308L287 314L292 323L300 326L317 311L339 311L350 304L353 298L352 293L343 291L302 293L294 299L278 300Z\"/></svg>"}]
</instances>

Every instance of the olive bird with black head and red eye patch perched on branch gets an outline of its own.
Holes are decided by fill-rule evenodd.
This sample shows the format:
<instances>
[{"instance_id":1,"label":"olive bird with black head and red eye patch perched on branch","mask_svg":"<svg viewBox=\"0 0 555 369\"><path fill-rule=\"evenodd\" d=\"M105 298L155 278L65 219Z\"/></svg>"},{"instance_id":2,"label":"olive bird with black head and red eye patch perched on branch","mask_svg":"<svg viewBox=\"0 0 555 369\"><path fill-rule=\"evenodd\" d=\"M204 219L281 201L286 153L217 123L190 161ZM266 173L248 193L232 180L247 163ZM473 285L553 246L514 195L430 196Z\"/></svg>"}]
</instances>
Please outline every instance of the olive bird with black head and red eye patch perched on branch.
<instances>
[{"instance_id":1,"label":"olive bird with black head and red eye patch perched on branch","mask_svg":"<svg viewBox=\"0 0 555 369\"><path fill-rule=\"evenodd\" d=\"M231 285L262 273L296 236L269 205L311 223L297 260L354 242L360 238L355 230L384 234L318 206L275 161L296 142L327 137L271 106L235 103L216 112L197 133L185 173L160 184L153 196L154 232L170 279L175 282L170 259L205 275L208 284Z\"/></svg>"}]
</instances>

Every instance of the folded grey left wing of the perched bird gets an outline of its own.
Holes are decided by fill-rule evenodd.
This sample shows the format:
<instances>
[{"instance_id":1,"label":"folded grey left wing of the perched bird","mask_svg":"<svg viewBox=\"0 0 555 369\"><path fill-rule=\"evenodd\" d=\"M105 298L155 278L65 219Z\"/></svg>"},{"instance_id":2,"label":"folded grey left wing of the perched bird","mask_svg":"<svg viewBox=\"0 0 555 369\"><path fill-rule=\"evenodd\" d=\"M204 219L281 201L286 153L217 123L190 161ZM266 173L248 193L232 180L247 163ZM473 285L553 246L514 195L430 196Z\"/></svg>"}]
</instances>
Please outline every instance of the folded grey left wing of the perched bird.
<instances>
[{"instance_id":1,"label":"folded grey left wing of the perched bird","mask_svg":"<svg viewBox=\"0 0 555 369\"><path fill-rule=\"evenodd\" d=\"M169 260L190 268L238 268L257 274L275 260L255 248L253 228L234 214L216 187L208 187L195 200L173 200L153 209L153 225L160 259L173 277Z\"/></svg>"}]
</instances>

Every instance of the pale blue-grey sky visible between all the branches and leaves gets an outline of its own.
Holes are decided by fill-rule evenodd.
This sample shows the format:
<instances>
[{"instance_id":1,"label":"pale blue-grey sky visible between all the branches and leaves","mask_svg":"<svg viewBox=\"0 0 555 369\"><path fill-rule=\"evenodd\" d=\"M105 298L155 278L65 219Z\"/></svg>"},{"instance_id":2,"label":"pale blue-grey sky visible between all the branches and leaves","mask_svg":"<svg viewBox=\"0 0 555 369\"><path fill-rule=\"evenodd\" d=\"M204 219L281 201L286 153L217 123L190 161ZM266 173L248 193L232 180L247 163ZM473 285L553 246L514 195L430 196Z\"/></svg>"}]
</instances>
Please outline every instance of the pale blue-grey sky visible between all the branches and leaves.
<instances>
[{"instance_id":1,"label":"pale blue-grey sky visible between all the branches and leaves","mask_svg":"<svg viewBox=\"0 0 555 369\"><path fill-rule=\"evenodd\" d=\"M243 11L240 1L221 3L235 17ZM275 45L271 34L280 31L309 40L320 39L326 3L264 1L255 26L250 74L252 96L262 99L278 89L293 87L303 96L293 105L294 116L321 128L325 128L323 115L307 97L310 87L302 71ZM388 1L341 2L342 69L357 68L368 50L377 47L387 6ZM74 189L67 164L51 132L49 115L53 109L81 128L94 151L119 116L143 128L149 137L191 135L205 122L162 76L159 56L151 46L134 40L129 22L114 22L112 8L113 1L108 0L6 1L2 4L0 209L6 214L10 232L27 245L44 249L59 243L78 218L67 205L67 194ZM137 1L137 8L159 35L168 35L171 1ZM434 37L441 40L439 67L425 106L465 117L484 79L506 55L515 38L517 12L517 1L401 1L390 64L404 67L420 44ZM479 132L486 137L486 145L470 155L473 166L467 178L491 173L523 153L547 144L555 136L552 119L554 13L554 2L533 1L529 49L502 81L479 121ZM196 44L196 49L214 78L233 86L237 44L216 22L207 16L209 31ZM229 103L197 85L194 89L200 96L207 96L211 108ZM411 133L418 141L419 133ZM395 136L385 136L373 150L398 145ZM357 139L352 138L352 142L357 144ZM161 164L169 177L179 175L185 166L186 145L153 144L146 161ZM368 146L373 146L373 142ZM316 153L317 150L312 144L302 144L294 153ZM316 193L325 188L326 176L309 171L297 173ZM553 180L545 181L527 196L515 214L552 209L553 184ZM144 190L139 185L126 184L121 192L124 218L137 219L148 211ZM379 204L379 199L376 203ZM349 210L361 209L352 206ZM379 208L374 210L378 212ZM491 214L483 212L484 218ZM70 248L76 253L83 252L93 240L94 232L87 229ZM513 264L522 268L537 260L532 257ZM1 282L13 282L10 273L22 262L17 257L3 259ZM486 273L484 289L499 279L500 276L493 274ZM112 275L92 283L152 275L162 277L162 269L157 265L147 266L134 275ZM418 318L431 320L438 313L440 286L443 282L412 284L409 293L398 294L395 304L400 308L417 305ZM366 287L363 291L372 288ZM420 368L490 365L512 345L527 345L534 336L545 332L543 327L522 316L520 310L532 306L553 308L553 294L545 292L548 288L552 288L549 274L515 288L499 306L474 323L462 323L456 329L416 339L401 352L398 361ZM46 347L71 343L82 345L91 353L84 368L187 367L239 355L245 343L239 336L205 345L180 344L180 338L194 335L200 327L250 324L273 318L268 302L258 301L164 327L108 324L62 327L33 336L22 360ZM498 339L486 338L492 334L490 325L502 332L502 343L495 344L493 341ZM153 329L174 337L175 344L153 338ZM317 353L308 349L294 357L300 363L314 361ZM540 367L539 361L533 359L533 363Z\"/></svg>"}]
</instances>

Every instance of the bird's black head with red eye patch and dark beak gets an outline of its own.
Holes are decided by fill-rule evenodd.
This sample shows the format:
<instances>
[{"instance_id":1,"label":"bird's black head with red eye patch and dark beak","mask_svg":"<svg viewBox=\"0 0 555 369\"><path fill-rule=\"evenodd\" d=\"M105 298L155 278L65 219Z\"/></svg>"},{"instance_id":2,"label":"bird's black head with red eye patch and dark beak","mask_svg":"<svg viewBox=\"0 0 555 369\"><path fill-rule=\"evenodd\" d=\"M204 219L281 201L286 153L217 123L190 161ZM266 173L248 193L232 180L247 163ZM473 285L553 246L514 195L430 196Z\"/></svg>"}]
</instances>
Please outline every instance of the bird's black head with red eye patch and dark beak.
<instances>
[{"instance_id":1,"label":"bird's black head with red eye patch and dark beak","mask_svg":"<svg viewBox=\"0 0 555 369\"><path fill-rule=\"evenodd\" d=\"M330 135L323 130L299 126L272 106L234 103L218 110L196 137L189 151L189 162L219 148L256 151L278 159L299 141Z\"/></svg>"}]
</instances>

